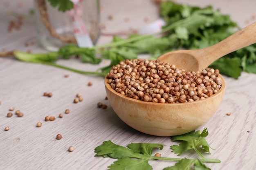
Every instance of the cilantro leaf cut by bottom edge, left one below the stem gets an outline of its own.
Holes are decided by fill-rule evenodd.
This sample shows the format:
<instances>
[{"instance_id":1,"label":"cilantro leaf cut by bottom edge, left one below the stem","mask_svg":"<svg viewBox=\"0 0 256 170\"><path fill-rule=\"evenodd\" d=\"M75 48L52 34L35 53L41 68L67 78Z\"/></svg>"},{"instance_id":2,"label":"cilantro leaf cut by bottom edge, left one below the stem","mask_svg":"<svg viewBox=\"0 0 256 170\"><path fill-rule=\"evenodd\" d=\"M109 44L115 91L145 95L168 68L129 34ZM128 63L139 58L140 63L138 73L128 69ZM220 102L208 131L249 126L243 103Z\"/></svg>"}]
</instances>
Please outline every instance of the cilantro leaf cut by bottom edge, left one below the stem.
<instances>
[{"instance_id":1,"label":"cilantro leaf cut by bottom edge, left one below the stem","mask_svg":"<svg viewBox=\"0 0 256 170\"><path fill-rule=\"evenodd\" d=\"M118 159L111 166L110 170L153 170L148 164L148 159L132 159L129 157Z\"/></svg>"}]
</instances>

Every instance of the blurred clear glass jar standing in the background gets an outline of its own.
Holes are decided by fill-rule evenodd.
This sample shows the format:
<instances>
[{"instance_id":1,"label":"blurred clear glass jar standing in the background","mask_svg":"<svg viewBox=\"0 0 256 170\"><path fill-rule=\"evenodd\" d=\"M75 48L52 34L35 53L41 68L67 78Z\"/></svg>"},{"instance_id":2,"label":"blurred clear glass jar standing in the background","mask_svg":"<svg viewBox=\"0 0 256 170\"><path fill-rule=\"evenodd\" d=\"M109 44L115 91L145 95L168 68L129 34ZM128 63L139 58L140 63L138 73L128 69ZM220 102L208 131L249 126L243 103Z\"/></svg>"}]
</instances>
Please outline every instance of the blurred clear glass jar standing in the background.
<instances>
[{"instance_id":1,"label":"blurred clear glass jar standing in the background","mask_svg":"<svg viewBox=\"0 0 256 170\"><path fill-rule=\"evenodd\" d=\"M58 51L68 44L90 47L99 38L99 0L71 1L74 8L62 12L48 0L34 0L37 38L49 51Z\"/></svg>"}]
</instances>

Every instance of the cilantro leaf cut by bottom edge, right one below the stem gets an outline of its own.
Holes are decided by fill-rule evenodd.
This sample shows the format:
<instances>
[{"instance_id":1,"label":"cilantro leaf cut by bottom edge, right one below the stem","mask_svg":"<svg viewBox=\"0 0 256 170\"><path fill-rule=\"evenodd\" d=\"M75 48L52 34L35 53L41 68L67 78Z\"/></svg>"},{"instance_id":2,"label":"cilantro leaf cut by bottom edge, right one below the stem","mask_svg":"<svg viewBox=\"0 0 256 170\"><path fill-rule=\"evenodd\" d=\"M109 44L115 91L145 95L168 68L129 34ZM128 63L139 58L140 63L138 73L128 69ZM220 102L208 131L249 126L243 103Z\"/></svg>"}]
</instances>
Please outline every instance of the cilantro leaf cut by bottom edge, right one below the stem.
<instances>
[{"instance_id":1,"label":"cilantro leaf cut by bottom edge, right one below the stem","mask_svg":"<svg viewBox=\"0 0 256 170\"><path fill-rule=\"evenodd\" d=\"M166 167L163 170L191 170L191 166L193 166L194 170L211 170L199 159L186 159L186 158L175 163L175 166Z\"/></svg>"}]
</instances>

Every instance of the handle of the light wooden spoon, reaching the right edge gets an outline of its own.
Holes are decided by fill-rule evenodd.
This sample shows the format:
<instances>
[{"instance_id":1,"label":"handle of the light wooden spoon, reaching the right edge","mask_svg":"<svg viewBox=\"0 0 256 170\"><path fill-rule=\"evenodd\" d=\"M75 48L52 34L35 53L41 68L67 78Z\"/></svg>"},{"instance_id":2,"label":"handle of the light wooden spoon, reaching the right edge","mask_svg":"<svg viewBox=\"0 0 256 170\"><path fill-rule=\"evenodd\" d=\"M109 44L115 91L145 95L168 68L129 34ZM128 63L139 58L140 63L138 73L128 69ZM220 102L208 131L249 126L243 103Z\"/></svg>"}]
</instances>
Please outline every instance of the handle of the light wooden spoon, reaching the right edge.
<instances>
[{"instance_id":1,"label":"handle of the light wooden spoon, reaching the right edge","mask_svg":"<svg viewBox=\"0 0 256 170\"><path fill-rule=\"evenodd\" d=\"M204 64L209 66L220 57L254 43L256 43L256 22L237 31L221 42L205 48L201 56L206 59Z\"/></svg>"}]
</instances>

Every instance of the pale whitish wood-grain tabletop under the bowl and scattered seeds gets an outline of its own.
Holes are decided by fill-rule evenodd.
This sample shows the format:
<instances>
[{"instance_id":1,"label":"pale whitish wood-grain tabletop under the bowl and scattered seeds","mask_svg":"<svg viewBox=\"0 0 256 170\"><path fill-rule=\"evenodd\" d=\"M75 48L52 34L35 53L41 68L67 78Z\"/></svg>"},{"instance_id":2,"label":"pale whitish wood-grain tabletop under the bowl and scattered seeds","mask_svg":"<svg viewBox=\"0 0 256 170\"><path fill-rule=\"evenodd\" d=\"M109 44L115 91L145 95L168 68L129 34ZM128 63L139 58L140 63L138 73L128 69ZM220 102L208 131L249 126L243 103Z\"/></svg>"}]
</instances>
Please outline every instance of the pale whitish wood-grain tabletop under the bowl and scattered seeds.
<instances>
[{"instance_id":1,"label":"pale whitish wood-grain tabletop under the bowl and scattered seeds","mask_svg":"<svg viewBox=\"0 0 256 170\"><path fill-rule=\"evenodd\" d=\"M33 7L32 0L0 0L0 50L46 52L36 42L34 18L24 20L20 30L8 33L12 19L9 11L27 13ZM211 4L244 27L255 22L254 0L177 0L189 4ZM103 0L101 22L106 25L103 33L127 31L145 26L145 18L159 18L158 8L151 0ZM113 15L113 20L108 20ZM125 21L129 18L129 21ZM98 44L110 42L111 36L101 36ZM77 59L59 60L63 64L81 70L96 70L104 64L92 66ZM64 75L68 74L69 77ZM221 163L208 163L212 170L256 169L256 75L242 73L239 79L225 77L227 89L223 102L212 119L197 130L208 128L207 141L212 148L207 158L220 159ZM92 82L92 86L88 86ZM163 157L178 157L171 152L170 137L155 137L138 132L115 115L105 99L102 77L81 75L52 66L20 62L0 57L0 170L106 170L113 159L94 157L94 148L103 141L126 146L130 143L149 142L165 144L160 152ZM43 96L52 92L52 97ZM77 93L83 101L73 103ZM103 110L97 103L107 104ZM7 117L9 108L24 113L23 117ZM69 109L70 113L65 114ZM226 115L227 113L231 115ZM58 115L63 113L64 117ZM44 121L45 116L55 116L55 121ZM36 123L42 122L37 128ZM9 126L9 131L4 128ZM56 135L63 138L56 140ZM68 152L74 146L73 152ZM190 152L180 157L193 157ZM150 161L154 170L173 166L175 162Z\"/></svg>"}]
</instances>

